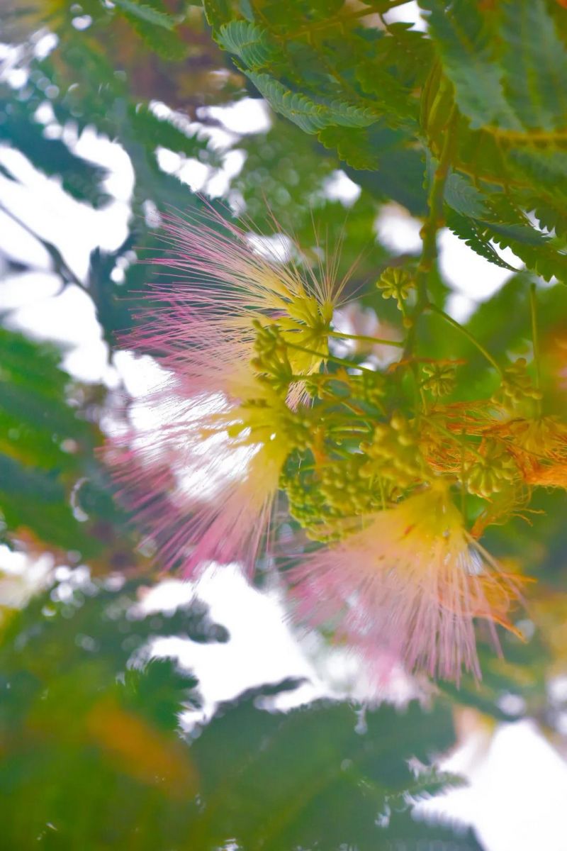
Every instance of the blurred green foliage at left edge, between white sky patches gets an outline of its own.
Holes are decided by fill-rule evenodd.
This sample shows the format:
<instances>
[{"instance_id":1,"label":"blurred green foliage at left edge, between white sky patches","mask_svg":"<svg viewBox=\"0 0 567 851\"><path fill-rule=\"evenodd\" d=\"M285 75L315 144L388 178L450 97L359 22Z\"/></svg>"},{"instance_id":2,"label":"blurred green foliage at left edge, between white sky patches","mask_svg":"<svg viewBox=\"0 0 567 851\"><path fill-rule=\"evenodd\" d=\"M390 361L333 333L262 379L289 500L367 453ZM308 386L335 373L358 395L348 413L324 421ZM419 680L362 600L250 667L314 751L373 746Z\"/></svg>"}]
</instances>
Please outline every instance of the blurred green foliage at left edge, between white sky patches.
<instances>
[{"instance_id":1,"label":"blurred green foliage at left edge, between white sky patches","mask_svg":"<svg viewBox=\"0 0 567 851\"><path fill-rule=\"evenodd\" d=\"M60 351L0 329L0 517L32 549L51 545L106 572L135 561L125 518L94 457L97 404L60 368ZM70 496L72 498L70 499ZM93 515L90 512L94 509ZM9 539L6 539L9 541ZM70 553L71 551L71 553Z\"/></svg>"}]
</instances>

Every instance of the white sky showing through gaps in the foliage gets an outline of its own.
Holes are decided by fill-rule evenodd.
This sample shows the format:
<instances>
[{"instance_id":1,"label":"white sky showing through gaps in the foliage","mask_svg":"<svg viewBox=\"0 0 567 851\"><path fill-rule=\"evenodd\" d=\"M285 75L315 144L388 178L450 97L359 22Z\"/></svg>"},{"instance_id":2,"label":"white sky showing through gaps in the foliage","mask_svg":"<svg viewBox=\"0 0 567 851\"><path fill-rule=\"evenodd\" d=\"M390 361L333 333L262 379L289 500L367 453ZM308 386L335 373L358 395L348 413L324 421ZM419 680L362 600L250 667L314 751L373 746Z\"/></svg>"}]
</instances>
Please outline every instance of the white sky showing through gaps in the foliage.
<instances>
[{"instance_id":1,"label":"white sky showing through gaps in the foliage","mask_svg":"<svg viewBox=\"0 0 567 851\"><path fill-rule=\"evenodd\" d=\"M49 122L48 112L45 117ZM221 147L223 138L233 140L235 134L269 126L266 109L252 100L226 109L215 107L214 117L226 129L224 137L224 131L219 130ZM75 202L57 180L38 174L25 157L8 146L0 146L0 163L7 165L20 182L0 175L0 202L60 248L73 271L83 279L92 248L112 250L126 237L133 171L119 146L91 131L76 140L76 150L110 169L107 186L115 198L110 207L94 211ZM163 168L179 174L194 188L213 194L224 191L243 162L240 151L230 153L223 171L212 175L203 172L201 163L181 161L171 152L163 151L161 160ZM337 172L327 191L349 204L358 188L345 174ZM418 231L417 220L394 205L384 208L377 219L380 239L397 252L415 250L419 246ZM458 318L466 317L474 301L490 297L509 273L491 266L449 231L441 233L439 244L440 266L454 289L450 310ZM38 338L59 341L65 347L65 368L77 379L103 380L116 386L123 378L143 393L144 361L138 360L134 366L133 359L124 353L115 364L108 363L88 295L76 286L60 293L58 279L48 272L48 257L41 245L1 212L0 246L15 260L33 260L46 270L25 277L4 277L0 282L0 311L11 311L9 323ZM150 359L146 369L151 383ZM21 573L21 565L19 571L15 569L13 559L0 547L0 566L13 575ZM34 569L41 575L44 568L42 563ZM4 590L17 596L18 582L10 582L12 585L4 588L0 585L0 593ZM167 608L192 593L190 586L171 582L154 592L153 602ZM175 650L185 664L195 669L209 701L229 698L252 683L276 681L289 675L312 681L301 694L308 699L328 689L329 681L340 692L349 677L354 677L351 663L345 665L340 654L337 658L324 657L315 639L298 644L284 622L284 609L275 592L259 594L230 568L223 568L207 576L200 593L210 603L213 619L229 629L230 643L195 647L182 646L176 640L168 645L161 643L158 649ZM400 688L403 690L403 686ZM488 737L481 732L470 735L449 767L467 774L471 785L429 808L475 825L487 851L567 851L567 766L532 722L502 725Z\"/></svg>"}]
</instances>

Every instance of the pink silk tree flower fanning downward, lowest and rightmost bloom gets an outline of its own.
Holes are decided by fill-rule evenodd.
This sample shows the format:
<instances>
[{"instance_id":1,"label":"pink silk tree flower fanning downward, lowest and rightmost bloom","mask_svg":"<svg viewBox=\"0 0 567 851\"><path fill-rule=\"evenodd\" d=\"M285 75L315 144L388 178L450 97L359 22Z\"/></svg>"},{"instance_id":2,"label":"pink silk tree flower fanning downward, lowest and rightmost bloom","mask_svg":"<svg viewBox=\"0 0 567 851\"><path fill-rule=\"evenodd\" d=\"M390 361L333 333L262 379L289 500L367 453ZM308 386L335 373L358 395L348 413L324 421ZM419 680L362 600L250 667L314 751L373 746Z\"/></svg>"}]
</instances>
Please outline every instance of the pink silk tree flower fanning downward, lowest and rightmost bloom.
<instances>
[{"instance_id":1,"label":"pink silk tree flower fanning downward, lowest and rightmost bloom","mask_svg":"<svg viewBox=\"0 0 567 851\"><path fill-rule=\"evenodd\" d=\"M516 582L467 533L445 486L381 511L361 531L290 572L298 617L328 623L371 665L377 651L411 671L480 677L474 619L512 629Z\"/></svg>"}]
</instances>

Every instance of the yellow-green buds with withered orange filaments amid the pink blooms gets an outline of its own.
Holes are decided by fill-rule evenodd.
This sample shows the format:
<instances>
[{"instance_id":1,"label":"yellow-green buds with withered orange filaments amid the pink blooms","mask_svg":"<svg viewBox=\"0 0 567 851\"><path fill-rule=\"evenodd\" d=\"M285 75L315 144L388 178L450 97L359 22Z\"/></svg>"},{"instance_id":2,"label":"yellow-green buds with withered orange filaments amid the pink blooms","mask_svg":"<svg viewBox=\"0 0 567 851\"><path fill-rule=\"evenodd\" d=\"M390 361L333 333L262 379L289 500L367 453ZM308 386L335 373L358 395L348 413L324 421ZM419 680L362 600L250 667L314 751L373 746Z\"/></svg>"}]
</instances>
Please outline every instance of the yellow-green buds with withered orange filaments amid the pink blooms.
<instances>
[{"instance_id":1,"label":"yellow-green buds with withered orange filaments amid the pink blooms","mask_svg":"<svg viewBox=\"0 0 567 851\"><path fill-rule=\"evenodd\" d=\"M401 269L386 270L377 284L405 319L414 285ZM342 539L375 512L439 478L463 497L486 500L480 515L471 502L473 528L481 528L483 518L495 523L509 516L537 477L549 480L549 453L541 473L534 438L512 439L513 423L539 422L535 403L541 393L524 358L503 371L496 401L440 401L456 388L459 362L410 354L384 371L357 366L329 351L332 316L315 299L294 297L288 308L286 316L254 323L251 365L258 398L240 403L227 431L241 443L264 443L277 469L283 465L280 486L289 513L310 539ZM556 448L562 435L555 428L546 438L553 443L552 460L567 457L567 437L565 450Z\"/></svg>"}]
</instances>

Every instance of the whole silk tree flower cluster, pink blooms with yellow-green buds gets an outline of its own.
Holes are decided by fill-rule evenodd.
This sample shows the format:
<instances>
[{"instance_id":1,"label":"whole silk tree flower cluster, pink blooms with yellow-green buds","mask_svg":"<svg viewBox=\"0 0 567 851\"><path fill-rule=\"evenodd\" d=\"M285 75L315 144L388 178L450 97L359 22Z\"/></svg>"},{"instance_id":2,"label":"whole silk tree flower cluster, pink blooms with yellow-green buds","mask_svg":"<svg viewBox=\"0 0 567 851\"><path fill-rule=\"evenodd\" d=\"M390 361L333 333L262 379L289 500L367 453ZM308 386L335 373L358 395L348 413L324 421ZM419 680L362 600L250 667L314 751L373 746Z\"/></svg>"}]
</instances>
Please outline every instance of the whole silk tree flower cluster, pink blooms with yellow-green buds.
<instances>
[{"instance_id":1,"label":"whole silk tree flower cluster, pink blooms with yellow-green buds","mask_svg":"<svg viewBox=\"0 0 567 851\"><path fill-rule=\"evenodd\" d=\"M311 266L289 240L264 248L213 209L166 232L159 262L173 274L127 340L167 371L147 400L162 419L109 450L160 563L195 577L238 562L252 575L280 558L298 617L365 658L479 677L474 621L497 643L522 584L479 535L532 488L567 486L567 426L541 414L529 364L502 368L490 399L447 401L460 362L337 330L348 276L336 259ZM411 271L377 285L407 319ZM343 357L345 340L397 357Z\"/></svg>"}]
</instances>

